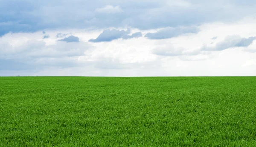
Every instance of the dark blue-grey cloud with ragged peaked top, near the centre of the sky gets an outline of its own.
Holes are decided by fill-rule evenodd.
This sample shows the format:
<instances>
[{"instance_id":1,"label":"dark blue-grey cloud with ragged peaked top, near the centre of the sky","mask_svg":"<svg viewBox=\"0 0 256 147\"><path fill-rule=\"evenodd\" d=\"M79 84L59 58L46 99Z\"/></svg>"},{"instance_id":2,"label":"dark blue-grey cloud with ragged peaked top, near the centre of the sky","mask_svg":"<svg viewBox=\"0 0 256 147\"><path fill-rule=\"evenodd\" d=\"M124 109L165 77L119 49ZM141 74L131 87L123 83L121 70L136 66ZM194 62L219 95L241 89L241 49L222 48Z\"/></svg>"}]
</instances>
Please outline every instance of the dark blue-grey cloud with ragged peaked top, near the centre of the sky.
<instances>
[{"instance_id":1,"label":"dark blue-grey cloud with ragged peaked top, near the centre of the sky","mask_svg":"<svg viewBox=\"0 0 256 147\"><path fill-rule=\"evenodd\" d=\"M138 38L142 36L141 32L134 33L132 35L128 35L130 33L130 30L104 30L96 39L90 39L90 42L110 42L112 40L116 40L119 38L122 39L131 39L131 38Z\"/></svg>"}]
</instances>

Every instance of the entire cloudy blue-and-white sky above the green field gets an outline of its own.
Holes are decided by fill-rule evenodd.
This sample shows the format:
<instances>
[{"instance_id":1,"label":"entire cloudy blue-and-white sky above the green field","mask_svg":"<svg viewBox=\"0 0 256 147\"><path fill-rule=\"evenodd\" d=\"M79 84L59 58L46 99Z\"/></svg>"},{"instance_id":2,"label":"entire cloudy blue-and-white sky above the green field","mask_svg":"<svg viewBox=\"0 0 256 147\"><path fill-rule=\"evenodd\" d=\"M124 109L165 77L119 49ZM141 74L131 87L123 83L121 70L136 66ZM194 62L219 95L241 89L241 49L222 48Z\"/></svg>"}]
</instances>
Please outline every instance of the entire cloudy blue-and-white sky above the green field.
<instances>
[{"instance_id":1,"label":"entire cloudy blue-and-white sky above the green field","mask_svg":"<svg viewBox=\"0 0 256 147\"><path fill-rule=\"evenodd\" d=\"M256 76L255 0L0 0L0 76Z\"/></svg>"}]
</instances>

